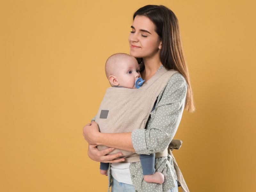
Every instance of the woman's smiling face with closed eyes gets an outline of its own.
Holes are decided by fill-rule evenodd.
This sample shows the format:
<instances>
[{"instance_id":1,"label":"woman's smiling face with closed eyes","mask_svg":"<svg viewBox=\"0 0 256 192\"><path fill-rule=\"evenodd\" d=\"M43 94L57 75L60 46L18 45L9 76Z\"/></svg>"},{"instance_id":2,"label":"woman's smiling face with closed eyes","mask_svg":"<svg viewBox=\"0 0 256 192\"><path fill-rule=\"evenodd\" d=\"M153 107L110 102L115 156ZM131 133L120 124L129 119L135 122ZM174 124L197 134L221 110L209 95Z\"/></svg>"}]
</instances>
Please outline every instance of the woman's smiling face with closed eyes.
<instances>
[{"instance_id":1,"label":"woman's smiling face with closed eyes","mask_svg":"<svg viewBox=\"0 0 256 192\"><path fill-rule=\"evenodd\" d=\"M136 15L128 38L130 55L136 58L150 58L159 54L162 41L155 32L155 24L146 16Z\"/></svg>"}]
</instances>

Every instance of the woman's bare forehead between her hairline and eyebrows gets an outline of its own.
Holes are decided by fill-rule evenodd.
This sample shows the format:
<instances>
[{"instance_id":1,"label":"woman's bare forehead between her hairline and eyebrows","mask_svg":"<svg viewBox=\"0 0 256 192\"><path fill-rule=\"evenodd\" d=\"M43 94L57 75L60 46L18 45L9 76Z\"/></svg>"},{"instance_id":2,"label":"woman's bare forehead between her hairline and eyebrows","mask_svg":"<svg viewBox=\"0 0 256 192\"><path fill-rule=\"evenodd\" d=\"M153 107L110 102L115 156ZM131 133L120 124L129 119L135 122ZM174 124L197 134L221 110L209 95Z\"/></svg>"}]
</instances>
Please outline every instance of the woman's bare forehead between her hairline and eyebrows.
<instances>
[{"instance_id":1,"label":"woman's bare forehead between her hairline and eyebrows","mask_svg":"<svg viewBox=\"0 0 256 192\"><path fill-rule=\"evenodd\" d=\"M155 25L148 17L136 15L133 20L132 27L134 27L136 31L142 29L151 33L154 31Z\"/></svg>"}]
</instances>

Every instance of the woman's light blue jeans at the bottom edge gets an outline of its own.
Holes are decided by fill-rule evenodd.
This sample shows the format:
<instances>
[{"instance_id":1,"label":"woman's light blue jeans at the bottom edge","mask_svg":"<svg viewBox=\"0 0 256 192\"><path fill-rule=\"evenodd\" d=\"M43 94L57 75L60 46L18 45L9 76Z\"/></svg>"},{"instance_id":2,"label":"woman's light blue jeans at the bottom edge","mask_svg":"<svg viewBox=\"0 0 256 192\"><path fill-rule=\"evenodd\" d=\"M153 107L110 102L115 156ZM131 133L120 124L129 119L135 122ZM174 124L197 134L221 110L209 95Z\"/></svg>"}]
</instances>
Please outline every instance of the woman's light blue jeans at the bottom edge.
<instances>
[{"instance_id":1,"label":"woman's light blue jeans at the bottom edge","mask_svg":"<svg viewBox=\"0 0 256 192\"><path fill-rule=\"evenodd\" d=\"M111 192L135 192L133 185L121 183L112 177ZM168 192L178 192L178 181L176 180L176 187L169 189Z\"/></svg>"}]
</instances>

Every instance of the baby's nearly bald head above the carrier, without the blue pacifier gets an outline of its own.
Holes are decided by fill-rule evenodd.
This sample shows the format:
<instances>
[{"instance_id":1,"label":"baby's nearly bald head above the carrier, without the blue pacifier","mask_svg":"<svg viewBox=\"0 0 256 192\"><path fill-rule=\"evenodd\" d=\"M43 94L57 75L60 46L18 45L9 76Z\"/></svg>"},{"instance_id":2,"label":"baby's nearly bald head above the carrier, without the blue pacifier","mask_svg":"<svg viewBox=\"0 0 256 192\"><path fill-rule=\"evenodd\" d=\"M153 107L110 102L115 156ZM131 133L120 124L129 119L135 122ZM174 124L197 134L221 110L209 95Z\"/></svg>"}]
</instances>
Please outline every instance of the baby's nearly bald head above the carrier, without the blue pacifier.
<instances>
[{"instance_id":1,"label":"baby's nearly bald head above the carrier, without the blue pacifier","mask_svg":"<svg viewBox=\"0 0 256 192\"><path fill-rule=\"evenodd\" d=\"M111 55L106 61L105 72L112 87L135 88L135 81L141 77L138 61L126 53Z\"/></svg>"}]
</instances>

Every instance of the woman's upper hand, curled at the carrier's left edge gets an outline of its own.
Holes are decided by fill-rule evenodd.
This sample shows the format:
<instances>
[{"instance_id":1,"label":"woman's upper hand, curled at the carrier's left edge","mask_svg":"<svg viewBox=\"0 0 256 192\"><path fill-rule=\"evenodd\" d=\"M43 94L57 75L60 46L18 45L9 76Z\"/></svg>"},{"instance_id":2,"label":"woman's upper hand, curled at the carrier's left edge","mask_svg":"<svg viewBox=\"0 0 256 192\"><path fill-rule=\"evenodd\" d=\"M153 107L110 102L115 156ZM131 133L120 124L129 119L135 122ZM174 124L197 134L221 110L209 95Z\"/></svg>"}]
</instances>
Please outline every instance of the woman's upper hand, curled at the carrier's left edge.
<instances>
[{"instance_id":1,"label":"woman's upper hand, curled at the carrier's left edge","mask_svg":"<svg viewBox=\"0 0 256 192\"><path fill-rule=\"evenodd\" d=\"M100 134L99 126L95 121L92 121L91 123L83 127L84 139L89 144L98 144L97 138L99 137L99 134Z\"/></svg>"}]
</instances>

